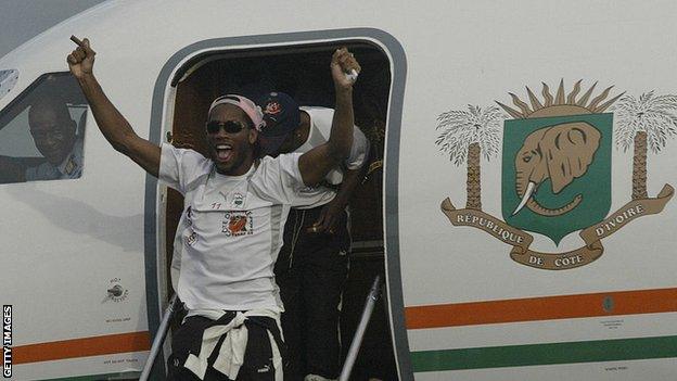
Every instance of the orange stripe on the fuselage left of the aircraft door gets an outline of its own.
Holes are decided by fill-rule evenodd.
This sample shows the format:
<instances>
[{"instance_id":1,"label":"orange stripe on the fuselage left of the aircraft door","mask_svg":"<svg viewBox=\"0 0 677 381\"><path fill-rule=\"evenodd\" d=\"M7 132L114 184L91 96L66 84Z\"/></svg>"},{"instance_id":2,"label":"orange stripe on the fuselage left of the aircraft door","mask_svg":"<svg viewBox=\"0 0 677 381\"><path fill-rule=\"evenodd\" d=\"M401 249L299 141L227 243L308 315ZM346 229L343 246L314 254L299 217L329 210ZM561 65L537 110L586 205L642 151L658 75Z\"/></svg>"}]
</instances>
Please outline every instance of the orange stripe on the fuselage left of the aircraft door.
<instances>
[{"instance_id":1,"label":"orange stripe on the fuselage left of the aircraft door","mask_svg":"<svg viewBox=\"0 0 677 381\"><path fill-rule=\"evenodd\" d=\"M107 334L84 339L29 344L12 348L14 364L51 361L58 359L141 352L151 348L151 336L145 332Z\"/></svg>"}]
</instances>

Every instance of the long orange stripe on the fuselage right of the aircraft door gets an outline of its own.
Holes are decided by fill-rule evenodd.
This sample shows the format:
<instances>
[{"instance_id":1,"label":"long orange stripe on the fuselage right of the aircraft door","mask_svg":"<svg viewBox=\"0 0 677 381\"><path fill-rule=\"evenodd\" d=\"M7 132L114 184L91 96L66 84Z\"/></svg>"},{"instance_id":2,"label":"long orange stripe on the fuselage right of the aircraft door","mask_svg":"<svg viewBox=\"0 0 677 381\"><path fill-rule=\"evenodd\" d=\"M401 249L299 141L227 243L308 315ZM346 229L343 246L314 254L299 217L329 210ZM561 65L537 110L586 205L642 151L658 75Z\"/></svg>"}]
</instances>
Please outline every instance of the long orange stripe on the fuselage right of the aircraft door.
<instances>
[{"instance_id":1,"label":"long orange stripe on the fuselage right of the aircraft door","mask_svg":"<svg viewBox=\"0 0 677 381\"><path fill-rule=\"evenodd\" d=\"M612 308L604 309L611 297ZM405 308L408 329L677 312L677 289L440 304Z\"/></svg>"}]
</instances>

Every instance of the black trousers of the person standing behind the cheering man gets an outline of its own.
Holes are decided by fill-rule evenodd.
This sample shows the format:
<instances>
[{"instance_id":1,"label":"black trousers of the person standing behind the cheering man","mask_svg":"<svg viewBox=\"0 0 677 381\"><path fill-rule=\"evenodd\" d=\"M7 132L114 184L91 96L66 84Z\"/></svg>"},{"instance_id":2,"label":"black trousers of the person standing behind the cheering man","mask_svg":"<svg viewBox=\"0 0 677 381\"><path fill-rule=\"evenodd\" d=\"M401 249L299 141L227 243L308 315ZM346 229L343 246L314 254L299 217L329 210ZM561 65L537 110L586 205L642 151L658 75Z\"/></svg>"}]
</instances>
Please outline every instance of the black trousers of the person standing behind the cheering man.
<instances>
[{"instance_id":1,"label":"black trousers of the person standing behind the cheering man","mask_svg":"<svg viewBox=\"0 0 677 381\"><path fill-rule=\"evenodd\" d=\"M345 212L333 234L309 232L321 208L290 212L274 267L285 310L285 381L303 380L310 373L333 379L340 371L338 304L348 271L350 238Z\"/></svg>"}]
</instances>

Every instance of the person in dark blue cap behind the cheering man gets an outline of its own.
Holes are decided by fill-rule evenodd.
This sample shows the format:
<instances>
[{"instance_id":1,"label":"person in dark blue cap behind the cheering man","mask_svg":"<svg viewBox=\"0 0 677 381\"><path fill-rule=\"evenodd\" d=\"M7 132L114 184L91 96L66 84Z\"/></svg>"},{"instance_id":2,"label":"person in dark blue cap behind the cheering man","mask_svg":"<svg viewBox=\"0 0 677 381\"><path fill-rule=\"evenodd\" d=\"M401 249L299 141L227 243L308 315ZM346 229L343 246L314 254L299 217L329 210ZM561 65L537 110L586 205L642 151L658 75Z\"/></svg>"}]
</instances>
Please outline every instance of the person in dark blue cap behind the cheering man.
<instances>
[{"instance_id":1,"label":"person in dark blue cap behind the cheering man","mask_svg":"<svg viewBox=\"0 0 677 381\"><path fill-rule=\"evenodd\" d=\"M283 92L267 93L258 104L265 120L258 137L261 154L304 153L329 138L332 109L299 106ZM291 348L288 380L338 376L338 306L350 250L347 205L368 156L369 140L355 126L349 155L321 183L303 190L311 203L292 208L286 220L274 270Z\"/></svg>"}]
</instances>

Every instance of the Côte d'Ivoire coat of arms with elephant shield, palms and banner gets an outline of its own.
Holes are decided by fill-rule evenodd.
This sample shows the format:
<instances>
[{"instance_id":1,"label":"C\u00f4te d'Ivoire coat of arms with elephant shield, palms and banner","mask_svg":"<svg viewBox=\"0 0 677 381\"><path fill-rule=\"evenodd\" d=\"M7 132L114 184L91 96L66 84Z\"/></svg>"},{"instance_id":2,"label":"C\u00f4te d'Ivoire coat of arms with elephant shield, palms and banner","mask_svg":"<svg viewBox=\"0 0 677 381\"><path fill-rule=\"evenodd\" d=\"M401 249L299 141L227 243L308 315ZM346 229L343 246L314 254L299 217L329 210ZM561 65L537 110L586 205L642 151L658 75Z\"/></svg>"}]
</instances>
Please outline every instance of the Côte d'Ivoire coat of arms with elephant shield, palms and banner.
<instances>
[{"instance_id":1,"label":"C\u00f4te d'Ivoire coat of arms with elephant shield, palms and banner","mask_svg":"<svg viewBox=\"0 0 677 381\"><path fill-rule=\"evenodd\" d=\"M674 190L665 185L655 199L647 196L647 140L657 152L667 137L677 136L677 97L655 97L653 92L639 100L625 92L612 97L613 86L596 94L597 82L585 91L582 82L575 82L567 93L561 80L554 96L544 82L542 98L526 87L528 103L509 92L514 106L496 101L507 116L496 106L473 105L439 115L437 128L443 132L435 143L454 164L468 163L465 208L457 209L450 199L442 204L452 225L482 229L512 245L510 256L518 263L560 270L596 261L603 253L603 238L635 218L663 209ZM623 130L616 136L617 145L627 150L635 139L636 154L633 200L609 214L614 140L611 111L616 102ZM646 117L647 113L652 114ZM503 220L483 211L480 176L482 154L488 160L498 151L501 122ZM529 247L534 237L527 231L547 236L557 245L563 237L579 231L585 245L541 253Z\"/></svg>"}]
</instances>

